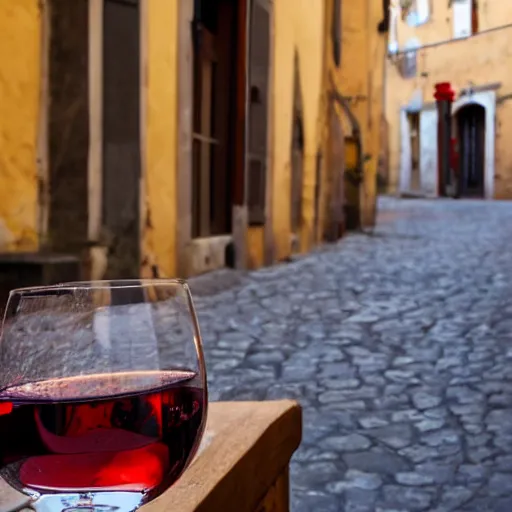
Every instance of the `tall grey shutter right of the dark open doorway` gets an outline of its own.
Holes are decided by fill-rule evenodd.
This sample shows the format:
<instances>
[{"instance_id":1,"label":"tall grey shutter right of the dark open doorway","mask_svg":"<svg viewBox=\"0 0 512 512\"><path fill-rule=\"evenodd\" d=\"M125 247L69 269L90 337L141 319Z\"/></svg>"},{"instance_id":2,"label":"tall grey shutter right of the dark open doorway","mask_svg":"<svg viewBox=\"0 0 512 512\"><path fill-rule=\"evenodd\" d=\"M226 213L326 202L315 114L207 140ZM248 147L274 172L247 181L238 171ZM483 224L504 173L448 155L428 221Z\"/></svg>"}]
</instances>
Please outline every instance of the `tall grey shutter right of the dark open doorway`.
<instances>
[{"instance_id":1,"label":"tall grey shutter right of the dark open doorway","mask_svg":"<svg viewBox=\"0 0 512 512\"><path fill-rule=\"evenodd\" d=\"M268 95L270 71L270 8L253 0L249 46L248 209L249 224L265 223Z\"/></svg>"}]
</instances>

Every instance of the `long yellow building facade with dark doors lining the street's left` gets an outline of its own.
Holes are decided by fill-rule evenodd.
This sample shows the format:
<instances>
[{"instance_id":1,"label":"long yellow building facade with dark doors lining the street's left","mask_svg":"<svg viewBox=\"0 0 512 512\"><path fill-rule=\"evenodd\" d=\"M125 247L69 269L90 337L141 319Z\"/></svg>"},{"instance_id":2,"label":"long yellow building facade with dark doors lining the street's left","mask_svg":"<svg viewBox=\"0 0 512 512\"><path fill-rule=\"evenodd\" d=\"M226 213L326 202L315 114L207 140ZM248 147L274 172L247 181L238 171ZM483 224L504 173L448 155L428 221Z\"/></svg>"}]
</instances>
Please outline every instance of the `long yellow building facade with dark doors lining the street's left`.
<instances>
[{"instance_id":1,"label":"long yellow building facade with dark doors lining the street's left","mask_svg":"<svg viewBox=\"0 0 512 512\"><path fill-rule=\"evenodd\" d=\"M1 2L0 252L191 276L371 225L374 3Z\"/></svg>"}]
</instances>

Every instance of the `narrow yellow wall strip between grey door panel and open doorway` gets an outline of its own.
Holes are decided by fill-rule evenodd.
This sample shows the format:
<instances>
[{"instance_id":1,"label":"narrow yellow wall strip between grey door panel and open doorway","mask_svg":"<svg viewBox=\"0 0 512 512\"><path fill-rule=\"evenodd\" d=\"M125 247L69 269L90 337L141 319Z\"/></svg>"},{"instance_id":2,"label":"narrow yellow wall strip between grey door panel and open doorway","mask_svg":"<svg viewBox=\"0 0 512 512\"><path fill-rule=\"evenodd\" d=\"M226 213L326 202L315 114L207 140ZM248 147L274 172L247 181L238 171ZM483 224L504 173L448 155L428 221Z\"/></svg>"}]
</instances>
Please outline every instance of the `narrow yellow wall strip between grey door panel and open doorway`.
<instances>
[{"instance_id":1,"label":"narrow yellow wall strip between grey door panel and open doorway","mask_svg":"<svg viewBox=\"0 0 512 512\"><path fill-rule=\"evenodd\" d=\"M143 275L176 273L178 5L146 0L143 87Z\"/></svg>"}]
</instances>

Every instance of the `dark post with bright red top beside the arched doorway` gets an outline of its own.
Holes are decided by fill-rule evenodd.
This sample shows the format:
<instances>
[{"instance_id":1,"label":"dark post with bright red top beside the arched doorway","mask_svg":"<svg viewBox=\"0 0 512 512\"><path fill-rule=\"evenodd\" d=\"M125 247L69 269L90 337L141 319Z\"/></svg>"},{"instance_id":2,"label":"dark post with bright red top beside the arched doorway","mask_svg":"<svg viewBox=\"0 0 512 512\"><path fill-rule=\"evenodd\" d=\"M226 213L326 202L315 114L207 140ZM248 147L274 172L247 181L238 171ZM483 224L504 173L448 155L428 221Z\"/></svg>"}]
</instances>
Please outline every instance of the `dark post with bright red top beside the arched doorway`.
<instances>
[{"instance_id":1,"label":"dark post with bright red top beside the arched doorway","mask_svg":"<svg viewBox=\"0 0 512 512\"><path fill-rule=\"evenodd\" d=\"M435 85L434 98L437 104L437 155L439 195L448 196L448 187L452 185L450 170L450 152L452 138L452 103L455 93L449 82Z\"/></svg>"}]
</instances>

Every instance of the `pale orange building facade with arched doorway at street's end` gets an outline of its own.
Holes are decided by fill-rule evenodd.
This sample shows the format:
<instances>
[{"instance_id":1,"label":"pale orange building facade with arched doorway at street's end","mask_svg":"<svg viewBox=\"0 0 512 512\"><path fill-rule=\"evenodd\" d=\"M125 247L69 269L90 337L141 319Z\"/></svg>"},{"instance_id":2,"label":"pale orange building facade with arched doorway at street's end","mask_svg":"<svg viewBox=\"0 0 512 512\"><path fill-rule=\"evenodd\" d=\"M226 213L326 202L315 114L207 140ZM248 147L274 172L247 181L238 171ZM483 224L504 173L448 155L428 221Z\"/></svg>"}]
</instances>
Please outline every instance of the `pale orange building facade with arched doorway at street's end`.
<instances>
[{"instance_id":1,"label":"pale orange building facade with arched doorway at street's end","mask_svg":"<svg viewBox=\"0 0 512 512\"><path fill-rule=\"evenodd\" d=\"M425 196L512 198L509 39L512 4L490 0L390 2L385 115L389 190ZM438 172L434 87L449 82L451 184Z\"/></svg>"}]
</instances>

